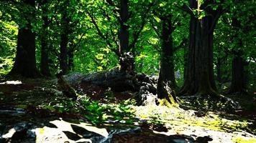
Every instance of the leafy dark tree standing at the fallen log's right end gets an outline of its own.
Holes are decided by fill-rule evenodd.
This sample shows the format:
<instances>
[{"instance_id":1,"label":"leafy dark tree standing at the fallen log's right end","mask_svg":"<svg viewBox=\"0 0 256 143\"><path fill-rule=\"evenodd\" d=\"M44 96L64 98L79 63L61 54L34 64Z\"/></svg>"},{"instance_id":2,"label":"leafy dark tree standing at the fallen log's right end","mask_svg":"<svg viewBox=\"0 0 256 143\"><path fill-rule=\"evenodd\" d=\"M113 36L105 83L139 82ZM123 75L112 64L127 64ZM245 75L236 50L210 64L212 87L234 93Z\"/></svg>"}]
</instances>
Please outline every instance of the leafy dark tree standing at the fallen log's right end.
<instances>
[{"instance_id":1,"label":"leafy dark tree standing at the fallen log's right end","mask_svg":"<svg viewBox=\"0 0 256 143\"><path fill-rule=\"evenodd\" d=\"M184 41L181 41L180 45L175 45L173 43L173 32L177 26L181 25L181 20L178 18L180 14L178 14L177 11L173 11L173 9L175 9L173 3L166 3L166 1L157 2L158 3L153 8L151 24L152 29L155 30L155 33L161 41L157 96L160 99L163 99L168 97L168 94L165 95L166 93L164 90L167 84L172 89L177 88L177 84L175 82L174 54L175 51L180 49L180 47L184 44ZM173 12L170 13L170 11Z\"/></svg>"}]
</instances>

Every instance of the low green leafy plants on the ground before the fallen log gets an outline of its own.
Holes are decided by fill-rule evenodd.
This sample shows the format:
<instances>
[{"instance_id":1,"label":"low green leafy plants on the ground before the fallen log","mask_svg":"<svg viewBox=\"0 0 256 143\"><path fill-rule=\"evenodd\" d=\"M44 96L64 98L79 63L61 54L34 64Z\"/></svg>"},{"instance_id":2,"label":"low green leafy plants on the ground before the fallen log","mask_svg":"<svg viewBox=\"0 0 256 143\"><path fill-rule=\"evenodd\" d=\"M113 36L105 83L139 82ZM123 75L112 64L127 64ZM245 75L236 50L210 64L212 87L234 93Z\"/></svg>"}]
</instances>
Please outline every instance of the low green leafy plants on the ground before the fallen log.
<instances>
[{"instance_id":1,"label":"low green leafy plants on the ground before the fallen log","mask_svg":"<svg viewBox=\"0 0 256 143\"><path fill-rule=\"evenodd\" d=\"M52 108L51 106L44 106L44 109L56 109L60 113L78 113L88 119L92 124L104 124L108 119L124 121L127 124L134 122L134 110L127 104L121 102L120 104L101 104L99 101L92 101L88 97L81 97L79 102L73 100L65 100L60 105Z\"/></svg>"}]
</instances>

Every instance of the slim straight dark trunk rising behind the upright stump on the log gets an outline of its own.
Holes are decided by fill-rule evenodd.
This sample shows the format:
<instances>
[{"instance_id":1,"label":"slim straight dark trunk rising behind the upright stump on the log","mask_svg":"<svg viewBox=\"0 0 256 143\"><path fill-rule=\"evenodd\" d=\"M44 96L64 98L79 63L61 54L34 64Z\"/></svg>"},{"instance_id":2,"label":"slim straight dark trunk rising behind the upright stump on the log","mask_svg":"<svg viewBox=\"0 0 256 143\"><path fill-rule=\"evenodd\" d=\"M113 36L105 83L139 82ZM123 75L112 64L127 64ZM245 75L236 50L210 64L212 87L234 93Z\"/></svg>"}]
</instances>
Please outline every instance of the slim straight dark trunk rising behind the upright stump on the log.
<instances>
[{"instance_id":1,"label":"slim straight dark trunk rising behind the upright stump on the log","mask_svg":"<svg viewBox=\"0 0 256 143\"><path fill-rule=\"evenodd\" d=\"M129 0L120 1L120 31L119 31L119 53L129 51L129 26L127 21L129 19Z\"/></svg>"}]
</instances>

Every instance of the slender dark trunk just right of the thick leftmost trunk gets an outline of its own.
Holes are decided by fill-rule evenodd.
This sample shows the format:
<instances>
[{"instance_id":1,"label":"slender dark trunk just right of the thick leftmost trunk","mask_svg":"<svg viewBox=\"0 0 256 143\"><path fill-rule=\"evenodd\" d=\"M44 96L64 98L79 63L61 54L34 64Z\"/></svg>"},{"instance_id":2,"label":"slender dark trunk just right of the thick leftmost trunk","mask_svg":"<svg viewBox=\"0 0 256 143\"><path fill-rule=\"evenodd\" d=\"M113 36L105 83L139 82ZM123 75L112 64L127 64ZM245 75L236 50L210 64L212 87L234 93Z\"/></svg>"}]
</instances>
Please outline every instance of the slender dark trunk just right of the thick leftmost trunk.
<instances>
[{"instance_id":1,"label":"slender dark trunk just right of the thick leftmost trunk","mask_svg":"<svg viewBox=\"0 0 256 143\"><path fill-rule=\"evenodd\" d=\"M42 13L47 13L47 0L42 1ZM48 46L48 32L47 28L49 27L50 21L47 17L47 15L42 16L42 20L44 21L44 24L42 25L42 35L41 38L41 73L44 76L50 76L50 68L49 68L49 46Z\"/></svg>"}]
</instances>

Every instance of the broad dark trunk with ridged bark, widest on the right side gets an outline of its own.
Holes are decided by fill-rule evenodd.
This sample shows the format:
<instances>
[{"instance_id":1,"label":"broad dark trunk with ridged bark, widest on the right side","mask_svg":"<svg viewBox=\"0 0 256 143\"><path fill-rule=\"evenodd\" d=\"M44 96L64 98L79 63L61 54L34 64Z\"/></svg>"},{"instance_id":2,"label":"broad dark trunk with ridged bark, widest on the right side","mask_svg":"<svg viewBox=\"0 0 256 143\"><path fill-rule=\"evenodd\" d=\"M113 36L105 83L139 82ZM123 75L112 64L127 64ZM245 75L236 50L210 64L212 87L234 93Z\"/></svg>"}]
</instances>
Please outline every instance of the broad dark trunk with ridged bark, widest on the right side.
<instances>
[{"instance_id":1,"label":"broad dark trunk with ridged bark, widest on the right side","mask_svg":"<svg viewBox=\"0 0 256 143\"><path fill-rule=\"evenodd\" d=\"M191 0L190 4L193 9L201 7L195 0ZM213 31L221 13L220 10L213 11L211 8L205 10L211 16L204 16L202 19L191 16L188 63L183 88L179 93L181 95L218 95L214 83Z\"/></svg>"}]
</instances>

